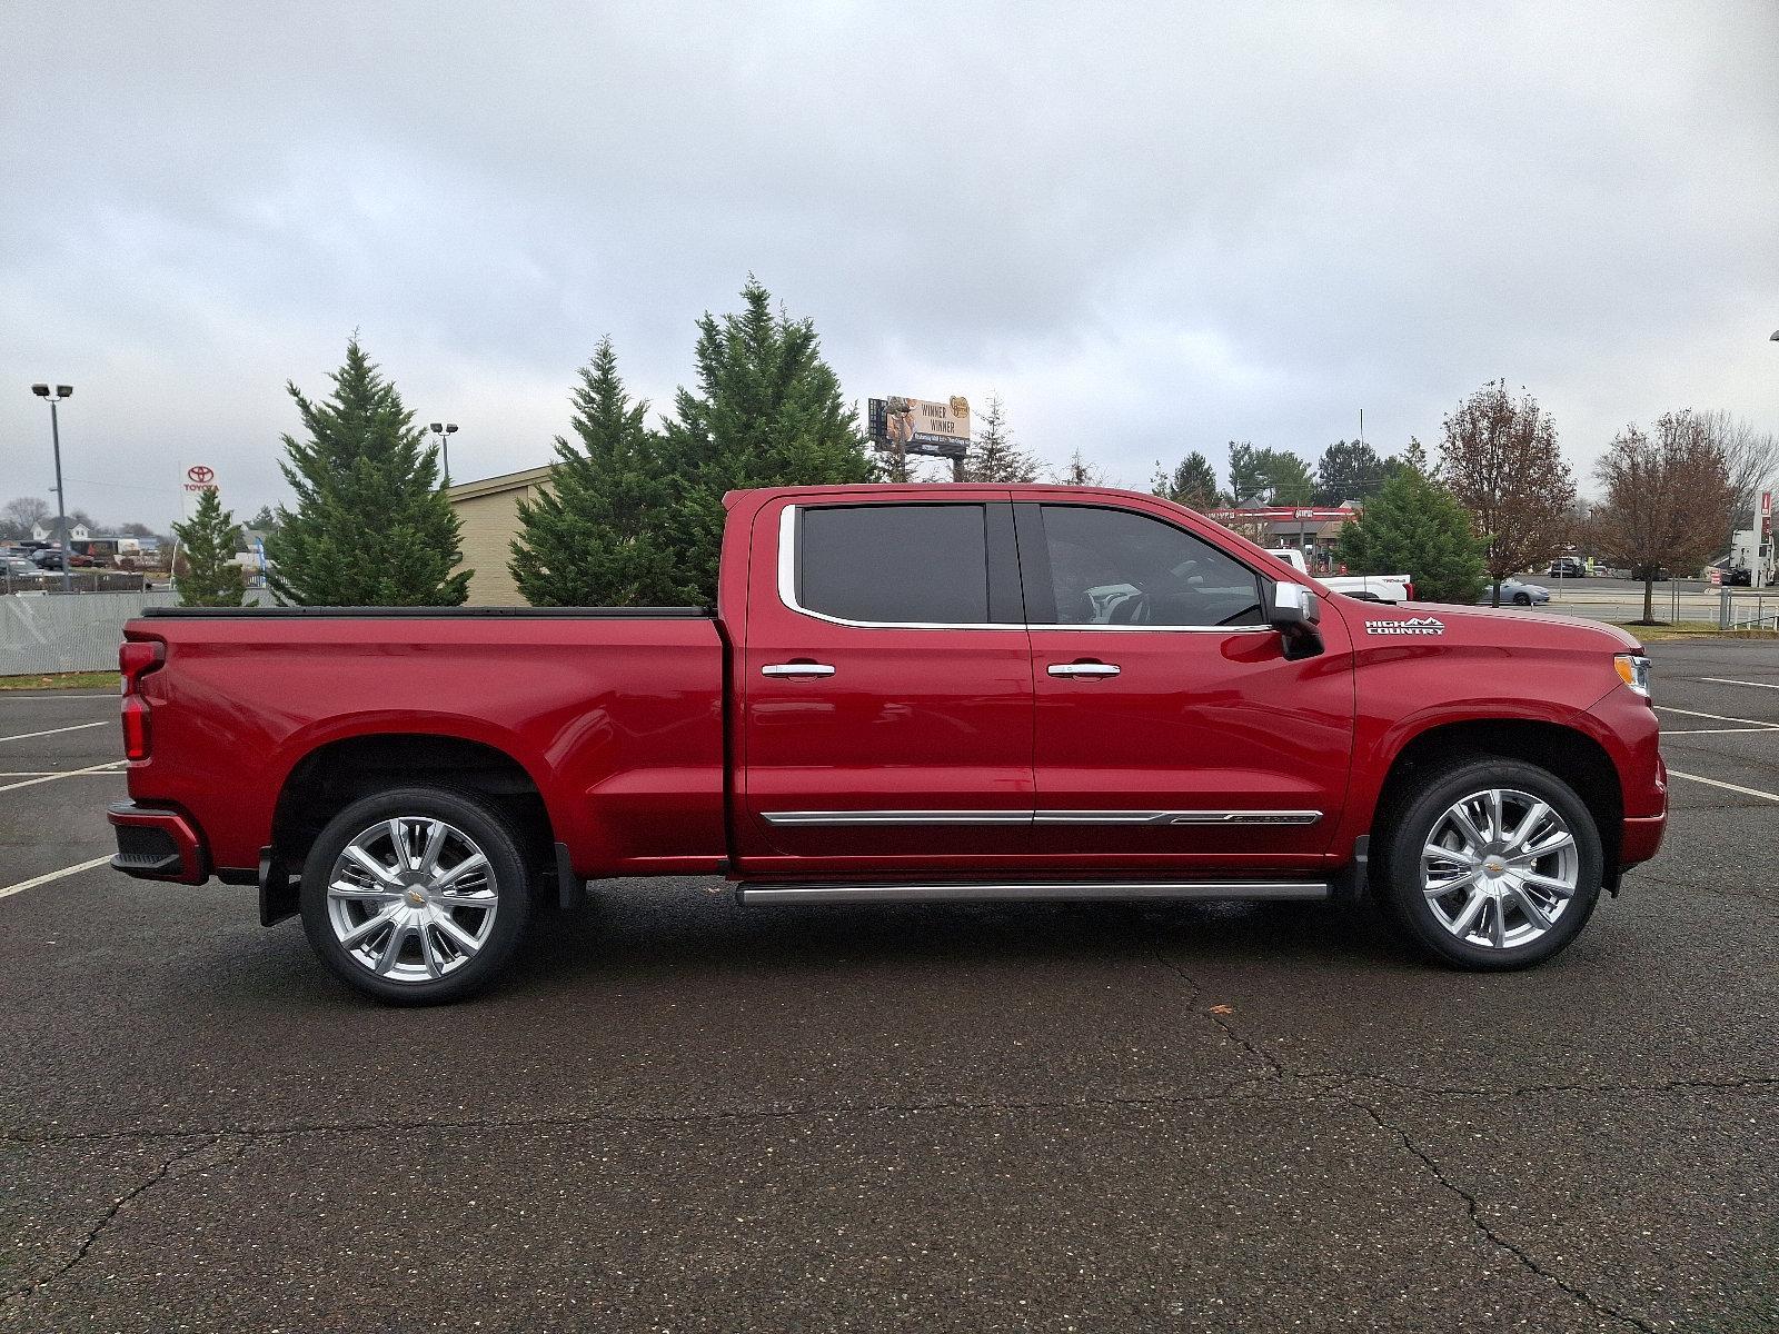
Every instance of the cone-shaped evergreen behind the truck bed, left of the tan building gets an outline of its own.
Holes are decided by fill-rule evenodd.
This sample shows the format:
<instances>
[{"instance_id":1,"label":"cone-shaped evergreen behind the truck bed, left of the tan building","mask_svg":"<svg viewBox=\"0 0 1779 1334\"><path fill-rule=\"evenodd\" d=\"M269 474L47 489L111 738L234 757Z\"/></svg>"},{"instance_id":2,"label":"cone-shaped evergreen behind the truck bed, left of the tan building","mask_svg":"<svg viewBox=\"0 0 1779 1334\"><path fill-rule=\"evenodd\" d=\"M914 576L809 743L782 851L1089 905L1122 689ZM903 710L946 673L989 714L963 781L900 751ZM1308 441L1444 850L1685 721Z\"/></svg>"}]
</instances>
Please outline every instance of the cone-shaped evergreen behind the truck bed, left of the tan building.
<instances>
[{"instance_id":1,"label":"cone-shaped evergreen behind the truck bed, left of the tan building","mask_svg":"<svg viewBox=\"0 0 1779 1334\"><path fill-rule=\"evenodd\" d=\"M285 436L278 466L297 503L278 512L267 582L299 607L461 605L459 523L415 414L358 338L331 379L326 402L286 386L308 439Z\"/></svg>"}]
</instances>

